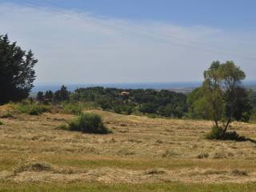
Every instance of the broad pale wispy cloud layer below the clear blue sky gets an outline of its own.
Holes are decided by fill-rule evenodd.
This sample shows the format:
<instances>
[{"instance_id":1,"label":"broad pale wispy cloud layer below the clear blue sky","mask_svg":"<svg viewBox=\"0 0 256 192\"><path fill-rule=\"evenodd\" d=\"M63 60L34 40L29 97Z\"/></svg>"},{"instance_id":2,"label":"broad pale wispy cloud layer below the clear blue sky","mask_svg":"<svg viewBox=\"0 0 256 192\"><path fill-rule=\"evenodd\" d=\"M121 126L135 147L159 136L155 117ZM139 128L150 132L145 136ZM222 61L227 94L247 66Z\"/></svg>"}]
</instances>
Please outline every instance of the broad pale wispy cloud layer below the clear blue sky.
<instances>
[{"instance_id":1,"label":"broad pale wispy cloud layer below the clear blue sky","mask_svg":"<svg viewBox=\"0 0 256 192\"><path fill-rule=\"evenodd\" d=\"M216 59L253 79L256 35L0 4L1 34L38 58L38 82L197 81Z\"/></svg>"}]
</instances>

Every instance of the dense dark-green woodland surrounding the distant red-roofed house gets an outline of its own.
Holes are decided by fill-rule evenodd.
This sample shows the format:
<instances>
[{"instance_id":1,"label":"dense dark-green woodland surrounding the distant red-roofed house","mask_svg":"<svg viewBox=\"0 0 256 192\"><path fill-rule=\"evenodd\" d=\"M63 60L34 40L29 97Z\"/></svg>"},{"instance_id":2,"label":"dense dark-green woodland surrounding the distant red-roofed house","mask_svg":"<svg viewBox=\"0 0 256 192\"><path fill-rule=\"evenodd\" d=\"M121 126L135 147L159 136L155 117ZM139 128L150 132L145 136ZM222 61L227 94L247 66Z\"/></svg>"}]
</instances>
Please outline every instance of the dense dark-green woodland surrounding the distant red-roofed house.
<instances>
[{"instance_id":1,"label":"dense dark-green woodland surrounding the distant red-roofed house","mask_svg":"<svg viewBox=\"0 0 256 192\"><path fill-rule=\"evenodd\" d=\"M129 95L122 95L122 91ZM118 114L156 114L165 117L186 116L186 95L169 90L122 90L116 88L89 87L70 94L74 102L95 102L102 110Z\"/></svg>"}]
</instances>

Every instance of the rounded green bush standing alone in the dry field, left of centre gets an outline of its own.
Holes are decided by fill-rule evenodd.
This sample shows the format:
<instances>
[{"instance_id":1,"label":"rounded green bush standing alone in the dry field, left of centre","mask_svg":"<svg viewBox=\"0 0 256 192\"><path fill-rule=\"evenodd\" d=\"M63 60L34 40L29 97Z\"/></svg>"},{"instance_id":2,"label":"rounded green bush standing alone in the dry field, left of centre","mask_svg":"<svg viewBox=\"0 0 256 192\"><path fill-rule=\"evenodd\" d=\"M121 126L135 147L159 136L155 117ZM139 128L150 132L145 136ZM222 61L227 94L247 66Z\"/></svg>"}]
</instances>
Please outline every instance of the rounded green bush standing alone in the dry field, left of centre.
<instances>
[{"instance_id":1,"label":"rounded green bush standing alone in the dry field, left of centre","mask_svg":"<svg viewBox=\"0 0 256 192\"><path fill-rule=\"evenodd\" d=\"M102 117L98 114L80 114L77 119L68 125L71 131L82 131L88 134L110 134L111 131L104 126Z\"/></svg>"}]
</instances>

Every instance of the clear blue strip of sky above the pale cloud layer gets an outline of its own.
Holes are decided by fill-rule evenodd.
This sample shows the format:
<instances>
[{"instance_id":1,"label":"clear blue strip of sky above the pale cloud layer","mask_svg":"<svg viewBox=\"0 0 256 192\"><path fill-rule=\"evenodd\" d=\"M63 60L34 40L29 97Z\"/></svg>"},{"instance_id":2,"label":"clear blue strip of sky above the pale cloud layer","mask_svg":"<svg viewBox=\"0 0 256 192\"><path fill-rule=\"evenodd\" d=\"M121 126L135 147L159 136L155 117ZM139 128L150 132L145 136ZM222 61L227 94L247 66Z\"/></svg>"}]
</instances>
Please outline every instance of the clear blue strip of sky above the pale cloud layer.
<instances>
[{"instance_id":1,"label":"clear blue strip of sky above the pale cloud layer","mask_svg":"<svg viewBox=\"0 0 256 192\"><path fill-rule=\"evenodd\" d=\"M9 0L0 2L21 1ZM89 11L112 18L158 20L182 26L203 25L255 30L254 0L34 0L41 6Z\"/></svg>"}]
</instances>

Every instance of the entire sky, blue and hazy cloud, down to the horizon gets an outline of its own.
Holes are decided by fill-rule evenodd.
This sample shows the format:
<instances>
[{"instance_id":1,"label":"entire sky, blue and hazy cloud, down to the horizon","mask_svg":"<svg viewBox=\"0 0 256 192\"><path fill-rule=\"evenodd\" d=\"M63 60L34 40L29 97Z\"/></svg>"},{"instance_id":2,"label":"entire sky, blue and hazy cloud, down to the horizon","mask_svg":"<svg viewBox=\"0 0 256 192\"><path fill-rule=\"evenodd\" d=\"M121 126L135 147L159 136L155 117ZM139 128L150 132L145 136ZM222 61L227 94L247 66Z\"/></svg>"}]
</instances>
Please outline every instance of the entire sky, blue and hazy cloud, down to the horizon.
<instances>
[{"instance_id":1,"label":"entire sky, blue and hazy cloud, down to the horizon","mask_svg":"<svg viewBox=\"0 0 256 192\"><path fill-rule=\"evenodd\" d=\"M253 0L0 0L36 83L197 82L214 60L255 80Z\"/></svg>"}]
</instances>

